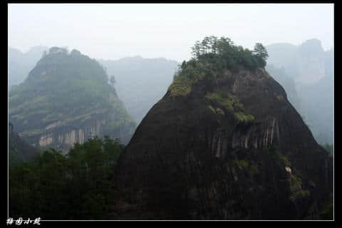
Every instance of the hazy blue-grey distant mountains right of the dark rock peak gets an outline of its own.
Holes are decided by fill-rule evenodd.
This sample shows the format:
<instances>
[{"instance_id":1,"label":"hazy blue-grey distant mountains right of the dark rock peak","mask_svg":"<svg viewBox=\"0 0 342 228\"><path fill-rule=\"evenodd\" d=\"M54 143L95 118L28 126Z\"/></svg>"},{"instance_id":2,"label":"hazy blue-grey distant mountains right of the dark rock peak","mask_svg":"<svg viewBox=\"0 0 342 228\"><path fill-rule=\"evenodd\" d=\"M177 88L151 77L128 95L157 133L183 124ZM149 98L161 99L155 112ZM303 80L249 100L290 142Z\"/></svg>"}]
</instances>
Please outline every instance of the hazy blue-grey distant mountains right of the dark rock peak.
<instances>
[{"instance_id":1,"label":"hazy blue-grey distant mountains right of the dark rock peak","mask_svg":"<svg viewBox=\"0 0 342 228\"><path fill-rule=\"evenodd\" d=\"M316 140L332 144L333 50L324 51L318 39L299 46L274 43L266 48L266 70L284 86Z\"/></svg>"}]
</instances>

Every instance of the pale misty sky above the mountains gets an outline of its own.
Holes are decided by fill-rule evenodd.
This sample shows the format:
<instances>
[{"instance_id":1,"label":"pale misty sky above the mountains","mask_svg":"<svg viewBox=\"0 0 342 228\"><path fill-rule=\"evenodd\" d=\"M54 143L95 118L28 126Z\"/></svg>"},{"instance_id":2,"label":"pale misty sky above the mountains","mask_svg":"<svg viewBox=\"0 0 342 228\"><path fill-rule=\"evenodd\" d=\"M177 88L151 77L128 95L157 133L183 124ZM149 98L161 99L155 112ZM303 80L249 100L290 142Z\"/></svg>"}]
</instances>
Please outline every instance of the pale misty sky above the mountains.
<instances>
[{"instance_id":1,"label":"pale misty sky above the mountains","mask_svg":"<svg viewBox=\"0 0 342 228\"><path fill-rule=\"evenodd\" d=\"M190 58L204 36L333 47L333 4L9 4L9 46L68 46L90 58Z\"/></svg>"}]
</instances>

